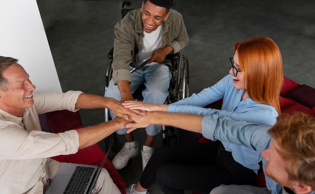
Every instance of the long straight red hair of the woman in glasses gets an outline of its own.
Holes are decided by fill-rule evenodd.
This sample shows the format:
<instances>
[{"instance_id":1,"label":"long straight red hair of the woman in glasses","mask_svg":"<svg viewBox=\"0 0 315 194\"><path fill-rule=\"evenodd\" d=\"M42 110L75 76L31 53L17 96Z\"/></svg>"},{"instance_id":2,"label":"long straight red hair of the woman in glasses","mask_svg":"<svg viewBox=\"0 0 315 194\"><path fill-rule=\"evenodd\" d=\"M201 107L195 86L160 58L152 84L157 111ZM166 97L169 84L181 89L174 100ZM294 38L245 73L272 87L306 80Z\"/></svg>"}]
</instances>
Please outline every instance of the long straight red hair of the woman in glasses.
<instances>
[{"instance_id":1,"label":"long straight red hair of the woman in glasses","mask_svg":"<svg viewBox=\"0 0 315 194\"><path fill-rule=\"evenodd\" d=\"M245 80L247 94L257 103L274 107L280 114L279 95L283 84L282 57L268 37L253 38L235 44Z\"/></svg>"}]
</instances>

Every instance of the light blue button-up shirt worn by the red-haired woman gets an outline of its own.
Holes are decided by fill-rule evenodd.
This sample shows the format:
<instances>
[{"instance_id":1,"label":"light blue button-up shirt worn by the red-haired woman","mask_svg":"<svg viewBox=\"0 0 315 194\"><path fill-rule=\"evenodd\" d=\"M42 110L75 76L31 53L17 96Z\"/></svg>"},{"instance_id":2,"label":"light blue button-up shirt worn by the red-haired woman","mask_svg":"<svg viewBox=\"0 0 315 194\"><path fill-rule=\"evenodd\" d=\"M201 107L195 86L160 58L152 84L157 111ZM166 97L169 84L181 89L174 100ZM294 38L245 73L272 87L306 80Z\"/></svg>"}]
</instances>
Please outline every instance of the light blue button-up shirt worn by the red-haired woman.
<instances>
[{"instance_id":1,"label":"light blue button-up shirt worn by the red-haired woman","mask_svg":"<svg viewBox=\"0 0 315 194\"><path fill-rule=\"evenodd\" d=\"M261 125L274 125L278 113L274 107L259 104L248 98L242 101L244 89L234 87L231 74L226 75L216 84L192 94L169 106L170 113L191 113L196 115L216 114L220 118L229 117L235 121L246 121ZM222 109L208 109L204 106L223 98ZM254 170L259 169L262 157L259 152L245 146L235 145L222 141L226 151L232 152L233 159L243 166Z\"/></svg>"}]
</instances>

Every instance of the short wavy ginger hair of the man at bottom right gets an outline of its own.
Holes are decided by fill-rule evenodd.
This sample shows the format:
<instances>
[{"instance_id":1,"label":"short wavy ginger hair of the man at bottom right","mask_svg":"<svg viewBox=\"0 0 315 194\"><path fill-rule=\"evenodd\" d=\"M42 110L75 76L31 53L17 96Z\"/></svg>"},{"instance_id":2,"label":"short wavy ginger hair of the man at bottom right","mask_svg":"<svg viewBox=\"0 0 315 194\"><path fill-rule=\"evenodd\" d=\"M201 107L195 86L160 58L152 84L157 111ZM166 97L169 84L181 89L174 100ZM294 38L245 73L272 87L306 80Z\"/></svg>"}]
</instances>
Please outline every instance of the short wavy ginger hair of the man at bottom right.
<instances>
[{"instance_id":1,"label":"short wavy ginger hair of the man at bottom right","mask_svg":"<svg viewBox=\"0 0 315 194\"><path fill-rule=\"evenodd\" d=\"M315 190L315 117L303 113L281 114L269 134L280 146L289 180Z\"/></svg>"}]
</instances>

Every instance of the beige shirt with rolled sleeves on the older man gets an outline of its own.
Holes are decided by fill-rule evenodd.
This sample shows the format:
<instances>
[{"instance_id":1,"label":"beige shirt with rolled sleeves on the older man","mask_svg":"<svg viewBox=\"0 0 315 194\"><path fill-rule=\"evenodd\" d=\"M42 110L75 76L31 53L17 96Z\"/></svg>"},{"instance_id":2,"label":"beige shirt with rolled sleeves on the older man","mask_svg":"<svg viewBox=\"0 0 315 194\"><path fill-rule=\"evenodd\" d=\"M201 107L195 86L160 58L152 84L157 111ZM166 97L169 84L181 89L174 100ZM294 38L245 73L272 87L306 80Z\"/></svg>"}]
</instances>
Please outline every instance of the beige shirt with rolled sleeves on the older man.
<instances>
[{"instance_id":1,"label":"beige shirt with rolled sleeves on the older man","mask_svg":"<svg viewBox=\"0 0 315 194\"><path fill-rule=\"evenodd\" d=\"M76 153L78 134L41 131L38 115L57 111L77 111L75 103L82 91L37 93L34 106L23 117L0 109L0 193L43 193L44 182L59 169L48 157Z\"/></svg>"}]
</instances>

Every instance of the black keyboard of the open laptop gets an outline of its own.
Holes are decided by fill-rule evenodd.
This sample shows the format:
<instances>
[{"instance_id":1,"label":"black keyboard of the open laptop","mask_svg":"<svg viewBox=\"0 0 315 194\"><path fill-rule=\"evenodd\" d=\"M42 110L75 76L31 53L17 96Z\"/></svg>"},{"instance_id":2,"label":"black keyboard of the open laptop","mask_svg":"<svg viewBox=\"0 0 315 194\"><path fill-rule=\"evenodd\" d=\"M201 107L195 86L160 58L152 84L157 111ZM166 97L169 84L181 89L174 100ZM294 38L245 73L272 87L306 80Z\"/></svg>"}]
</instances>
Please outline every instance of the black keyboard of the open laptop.
<instances>
[{"instance_id":1,"label":"black keyboard of the open laptop","mask_svg":"<svg viewBox=\"0 0 315 194\"><path fill-rule=\"evenodd\" d=\"M76 166L72 177L63 192L63 194L81 194L84 193L91 179L94 168L87 166Z\"/></svg>"}]
</instances>

